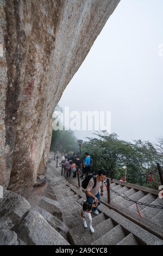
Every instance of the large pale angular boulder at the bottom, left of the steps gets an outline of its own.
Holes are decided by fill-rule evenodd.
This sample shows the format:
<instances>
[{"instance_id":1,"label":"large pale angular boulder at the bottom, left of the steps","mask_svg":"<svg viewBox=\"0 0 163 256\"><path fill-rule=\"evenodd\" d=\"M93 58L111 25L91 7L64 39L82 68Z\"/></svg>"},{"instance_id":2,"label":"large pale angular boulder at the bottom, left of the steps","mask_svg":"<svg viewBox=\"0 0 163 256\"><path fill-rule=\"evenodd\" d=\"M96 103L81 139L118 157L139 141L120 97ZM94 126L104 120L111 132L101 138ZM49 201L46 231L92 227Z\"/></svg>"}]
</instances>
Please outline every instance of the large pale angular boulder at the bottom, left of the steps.
<instances>
[{"instance_id":1,"label":"large pale angular boulder at the bottom, left of the steps","mask_svg":"<svg viewBox=\"0 0 163 256\"><path fill-rule=\"evenodd\" d=\"M30 211L13 230L27 245L69 245L37 211Z\"/></svg>"}]
</instances>

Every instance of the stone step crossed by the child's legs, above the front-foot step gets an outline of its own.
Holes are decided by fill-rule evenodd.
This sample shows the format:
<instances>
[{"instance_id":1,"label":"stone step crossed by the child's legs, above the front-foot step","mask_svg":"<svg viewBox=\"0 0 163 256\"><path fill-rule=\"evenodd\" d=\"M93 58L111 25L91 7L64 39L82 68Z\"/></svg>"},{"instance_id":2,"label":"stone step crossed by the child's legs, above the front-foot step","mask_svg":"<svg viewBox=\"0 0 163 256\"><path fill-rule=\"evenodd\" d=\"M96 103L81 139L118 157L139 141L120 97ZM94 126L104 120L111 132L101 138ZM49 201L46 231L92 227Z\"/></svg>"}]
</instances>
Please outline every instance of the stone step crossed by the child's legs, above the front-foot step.
<instances>
[{"instance_id":1,"label":"stone step crossed by the child's legs, above the front-foot step","mask_svg":"<svg viewBox=\"0 0 163 256\"><path fill-rule=\"evenodd\" d=\"M97 215L96 217L92 218L92 227L93 228L96 227L96 225L98 225L99 223L101 223L105 220L106 220L106 217L103 213ZM88 224L87 224L87 226L88 226ZM82 220L80 225L69 230L69 239L70 239L72 245L77 244L77 242L81 239L81 237L83 237L85 235L88 228L84 228L83 220Z\"/></svg>"}]
</instances>

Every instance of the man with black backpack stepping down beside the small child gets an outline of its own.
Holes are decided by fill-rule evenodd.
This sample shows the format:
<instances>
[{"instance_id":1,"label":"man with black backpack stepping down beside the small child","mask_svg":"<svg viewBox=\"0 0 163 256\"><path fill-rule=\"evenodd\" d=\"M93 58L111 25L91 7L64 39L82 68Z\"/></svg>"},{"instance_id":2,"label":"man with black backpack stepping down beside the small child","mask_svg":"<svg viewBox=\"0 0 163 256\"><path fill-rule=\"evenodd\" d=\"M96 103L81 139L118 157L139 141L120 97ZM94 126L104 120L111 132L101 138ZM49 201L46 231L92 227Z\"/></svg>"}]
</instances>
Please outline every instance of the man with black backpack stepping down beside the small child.
<instances>
[{"instance_id":1,"label":"man with black backpack stepping down beside the small child","mask_svg":"<svg viewBox=\"0 0 163 256\"><path fill-rule=\"evenodd\" d=\"M105 178L105 170L100 169L97 175L88 175L85 180L83 180L82 187L85 188L86 199L91 204L93 204L93 202L98 202L98 205L101 204L100 196L103 196L103 182ZM99 188L101 188L101 194L99 194ZM92 212L96 215L99 214L97 211L98 205L92 208Z\"/></svg>"}]
</instances>

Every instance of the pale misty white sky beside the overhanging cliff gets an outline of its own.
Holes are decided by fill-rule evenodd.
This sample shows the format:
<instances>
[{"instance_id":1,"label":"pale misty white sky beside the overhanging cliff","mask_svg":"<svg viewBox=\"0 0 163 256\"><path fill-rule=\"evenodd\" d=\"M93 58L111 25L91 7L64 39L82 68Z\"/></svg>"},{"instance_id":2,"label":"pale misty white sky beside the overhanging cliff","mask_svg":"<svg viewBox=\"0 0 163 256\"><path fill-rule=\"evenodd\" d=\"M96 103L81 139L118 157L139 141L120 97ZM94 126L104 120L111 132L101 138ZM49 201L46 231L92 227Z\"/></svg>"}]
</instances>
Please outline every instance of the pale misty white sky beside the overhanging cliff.
<instances>
[{"instance_id":1,"label":"pale misty white sky beside the overhanging cliff","mask_svg":"<svg viewBox=\"0 0 163 256\"><path fill-rule=\"evenodd\" d=\"M162 136L162 13L162 0L121 0L59 106L80 113L111 111L111 132L119 139L155 142ZM74 134L85 140L92 132Z\"/></svg>"}]
</instances>

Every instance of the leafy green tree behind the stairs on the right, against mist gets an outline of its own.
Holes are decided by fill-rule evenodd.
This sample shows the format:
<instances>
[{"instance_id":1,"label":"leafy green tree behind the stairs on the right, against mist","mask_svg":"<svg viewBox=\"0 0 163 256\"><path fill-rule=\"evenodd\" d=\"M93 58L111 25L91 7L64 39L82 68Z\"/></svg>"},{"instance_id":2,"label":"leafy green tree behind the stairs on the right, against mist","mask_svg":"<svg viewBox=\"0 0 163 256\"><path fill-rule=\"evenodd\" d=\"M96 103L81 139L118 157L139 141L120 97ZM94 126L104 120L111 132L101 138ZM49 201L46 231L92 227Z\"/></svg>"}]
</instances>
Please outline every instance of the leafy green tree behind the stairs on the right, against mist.
<instances>
[{"instance_id":1,"label":"leafy green tree behind the stairs on the right, against mist","mask_svg":"<svg viewBox=\"0 0 163 256\"><path fill-rule=\"evenodd\" d=\"M139 139L130 143L119 140L116 133L109 136L102 136L99 132L94 134L96 138L88 138L89 141L82 145L82 156L84 158L85 151L89 152L94 172L104 168L107 175L110 176L111 171L114 171L114 178L121 179L122 167L125 165L129 182L158 188L158 174L152 176L151 182L148 180L149 175L142 175L155 170L156 162L162 163L162 157L151 142Z\"/></svg>"}]
</instances>

